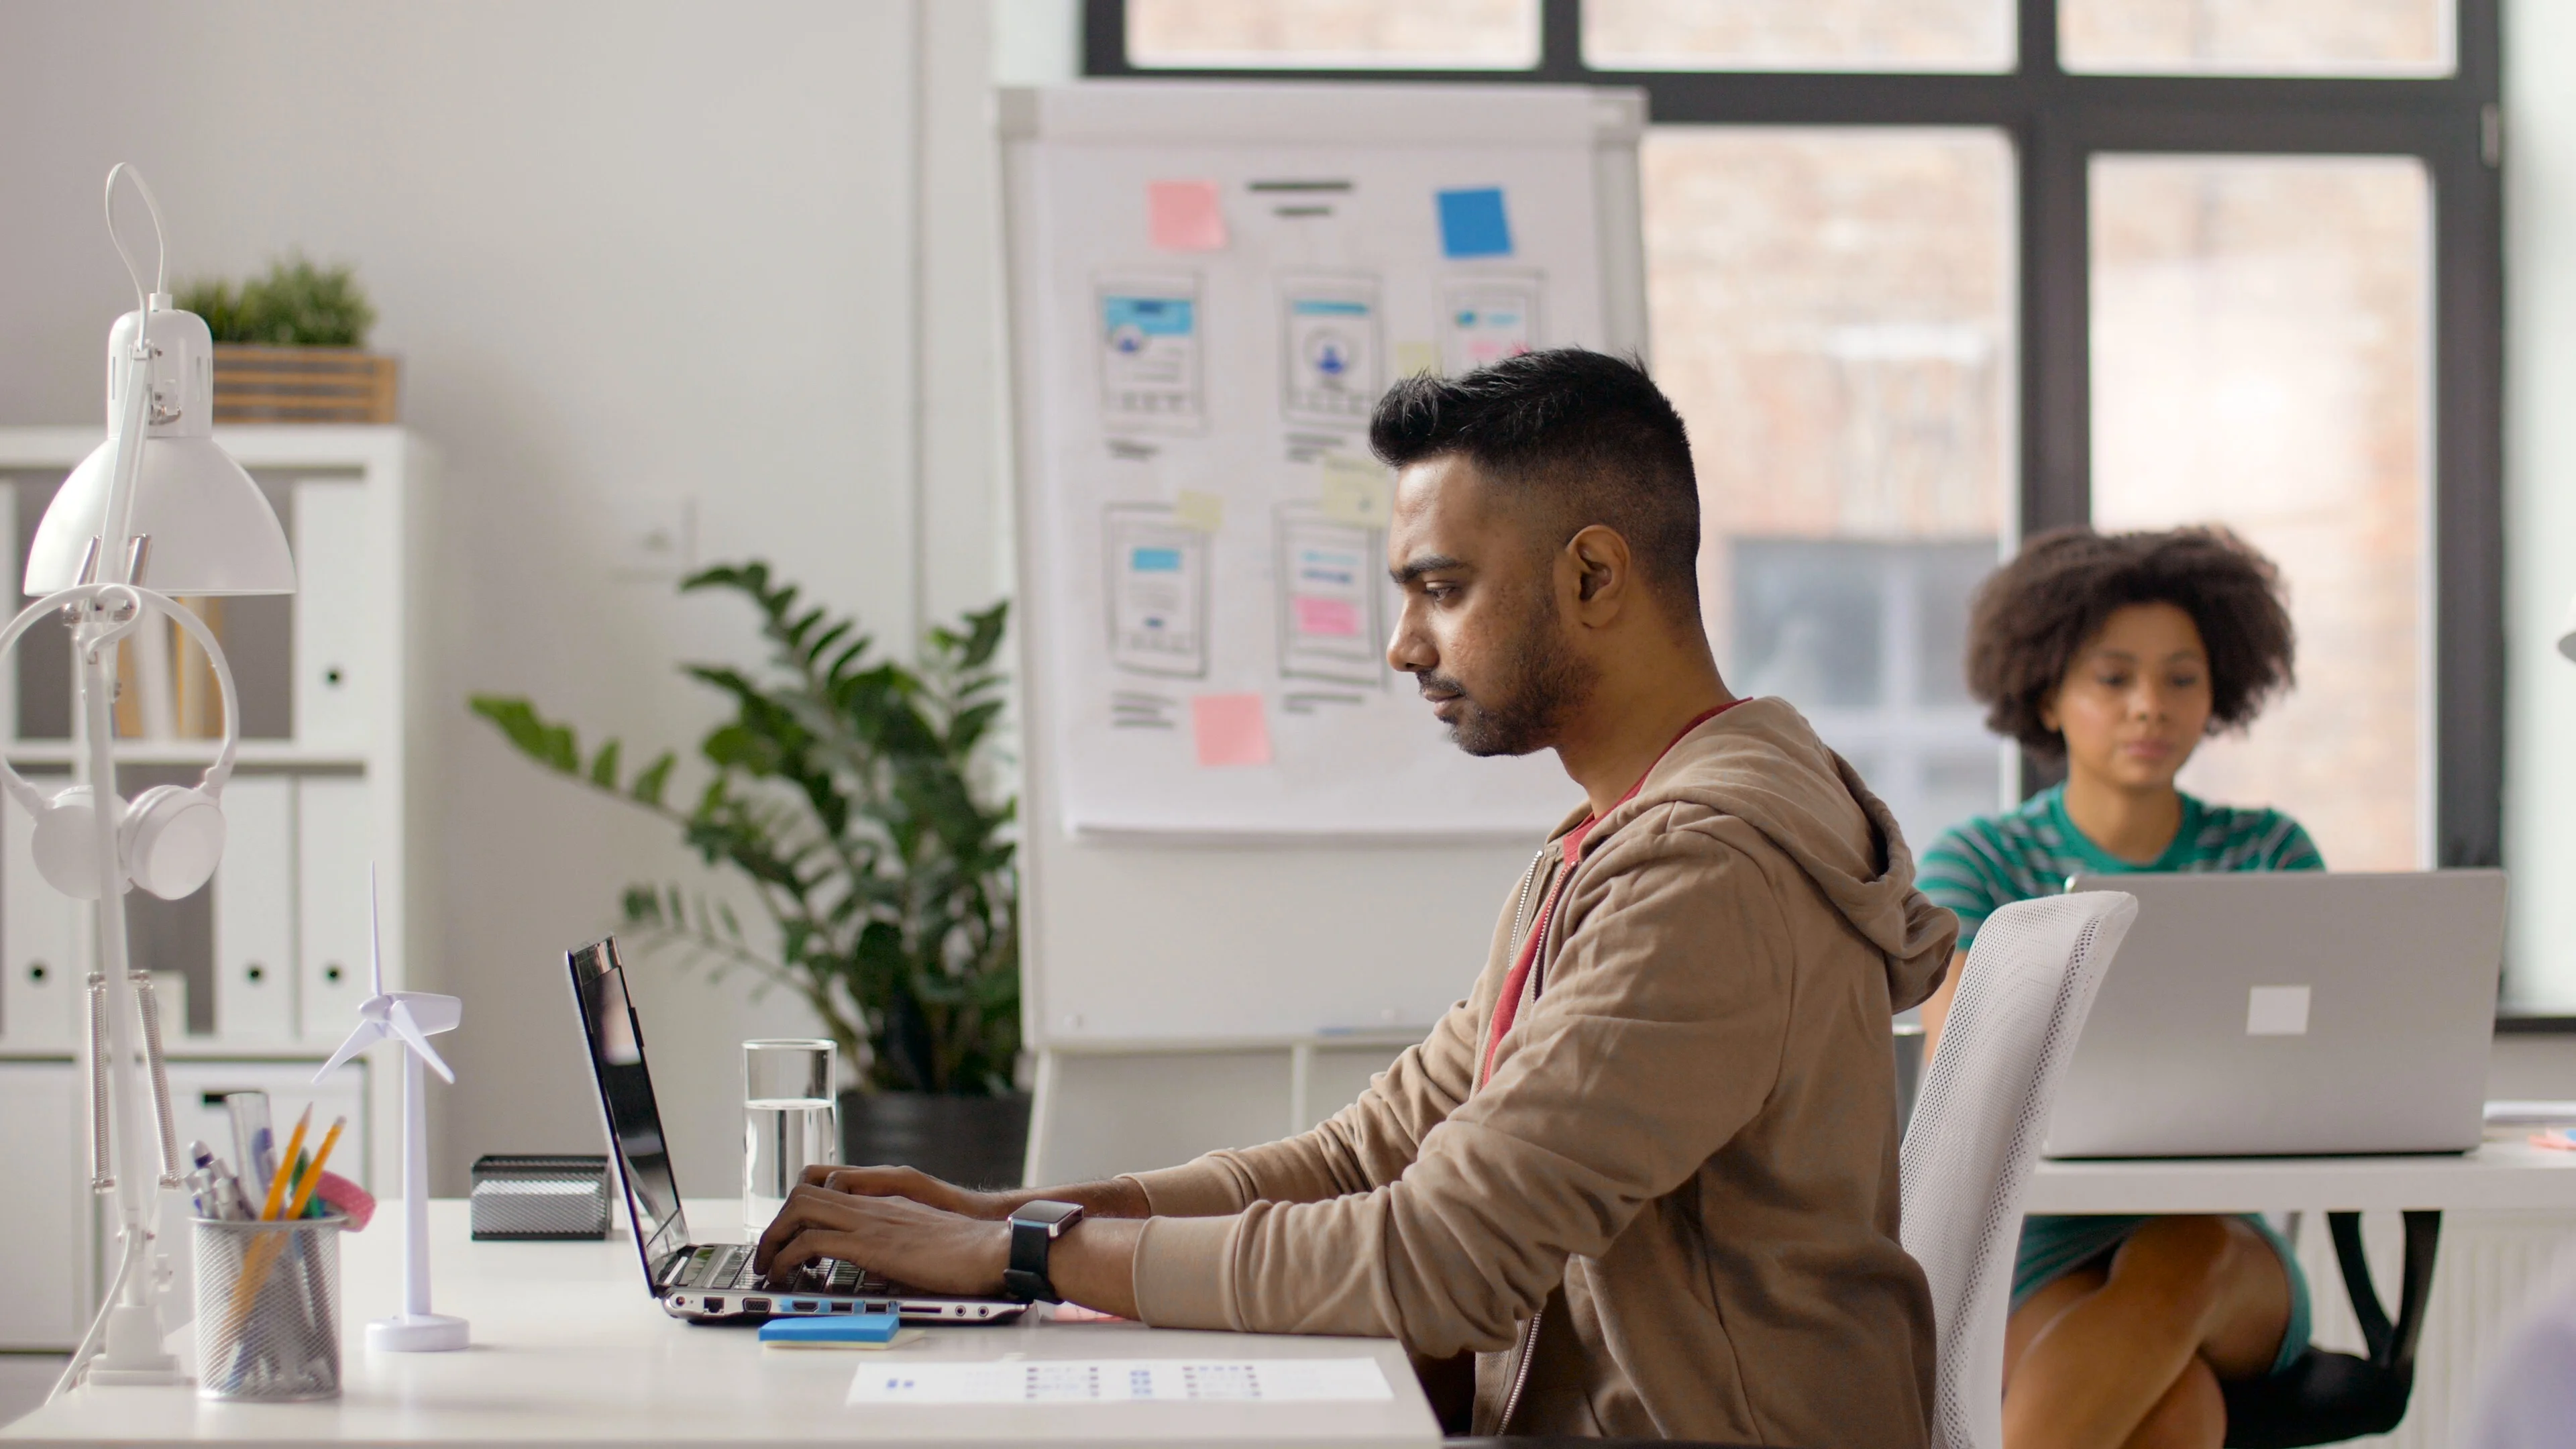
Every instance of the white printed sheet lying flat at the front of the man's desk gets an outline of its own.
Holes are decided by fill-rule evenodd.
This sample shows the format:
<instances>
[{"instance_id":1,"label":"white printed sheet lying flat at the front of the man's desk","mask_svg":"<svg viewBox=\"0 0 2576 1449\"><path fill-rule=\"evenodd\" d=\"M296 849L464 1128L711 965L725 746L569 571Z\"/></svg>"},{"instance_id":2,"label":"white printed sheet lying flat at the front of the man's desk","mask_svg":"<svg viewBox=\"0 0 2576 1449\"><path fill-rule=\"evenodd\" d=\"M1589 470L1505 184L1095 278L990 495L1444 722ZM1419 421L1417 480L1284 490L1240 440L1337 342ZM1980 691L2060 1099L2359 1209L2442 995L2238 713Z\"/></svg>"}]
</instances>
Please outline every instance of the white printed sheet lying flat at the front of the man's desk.
<instances>
[{"instance_id":1,"label":"white printed sheet lying flat at the front of the man's desk","mask_svg":"<svg viewBox=\"0 0 2576 1449\"><path fill-rule=\"evenodd\" d=\"M1020 1359L1012 1364L868 1364L853 1405L961 1403L1386 1403L1376 1359Z\"/></svg>"}]
</instances>

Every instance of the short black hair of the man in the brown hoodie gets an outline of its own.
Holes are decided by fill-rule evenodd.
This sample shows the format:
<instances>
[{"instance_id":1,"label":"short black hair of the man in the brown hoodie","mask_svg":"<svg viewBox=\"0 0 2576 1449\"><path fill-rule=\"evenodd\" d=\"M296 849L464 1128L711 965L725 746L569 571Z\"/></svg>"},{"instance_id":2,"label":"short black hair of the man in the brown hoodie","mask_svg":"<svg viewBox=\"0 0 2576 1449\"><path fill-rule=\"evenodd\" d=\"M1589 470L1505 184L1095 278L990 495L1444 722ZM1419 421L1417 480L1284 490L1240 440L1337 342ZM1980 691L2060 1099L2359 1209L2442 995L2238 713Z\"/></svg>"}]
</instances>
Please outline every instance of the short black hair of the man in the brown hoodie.
<instances>
[{"instance_id":1,"label":"short black hair of the man in the brown hoodie","mask_svg":"<svg viewBox=\"0 0 2576 1449\"><path fill-rule=\"evenodd\" d=\"M1636 358L1584 348L1522 353L1466 376L1406 376L1368 420L1388 467L1443 454L1530 495L1556 549L1618 529L1638 572L1692 624L1700 614L1700 480L1690 433Z\"/></svg>"}]
</instances>

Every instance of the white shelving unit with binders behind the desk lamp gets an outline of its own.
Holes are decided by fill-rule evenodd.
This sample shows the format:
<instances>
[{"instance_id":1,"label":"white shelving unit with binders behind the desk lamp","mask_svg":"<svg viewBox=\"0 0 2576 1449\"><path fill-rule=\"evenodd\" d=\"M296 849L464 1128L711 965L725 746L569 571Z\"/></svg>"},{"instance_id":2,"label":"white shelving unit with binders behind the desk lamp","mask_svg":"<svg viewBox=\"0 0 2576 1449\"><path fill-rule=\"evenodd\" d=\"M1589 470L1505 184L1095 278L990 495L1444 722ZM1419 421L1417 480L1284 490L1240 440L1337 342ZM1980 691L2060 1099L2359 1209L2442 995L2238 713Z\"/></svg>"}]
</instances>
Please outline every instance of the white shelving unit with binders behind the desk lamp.
<instances>
[{"instance_id":1,"label":"white shelving unit with binders behind the desk lamp","mask_svg":"<svg viewBox=\"0 0 2576 1449\"><path fill-rule=\"evenodd\" d=\"M21 578L26 531L62 477L100 443L93 428L0 428L0 562ZM422 959L433 794L412 750L428 735L417 601L422 508L435 451L404 428L216 428L216 443L268 490L296 554L291 601L227 601L219 629L242 676L240 768L224 792L224 864L196 897L139 902L134 964L185 980L165 998L178 1137L229 1155L219 1098L260 1088L283 1114L350 1116L332 1168L379 1196L399 1173L399 1104L366 1062L312 1085L366 995L366 874L384 900L384 972L399 987ZM8 611L26 601L0 590ZM28 639L46 634L39 627ZM67 773L70 650L21 645L0 660L0 750L31 779ZM59 678L57 688L49 681ZM289 706L278 706L278 694ZM214 740L124 740L118 784L188 779ZM39 779L39 784L44 784ZM100 1284L100 1209L88 1189L80 982L90 908L26 866L28 820L0 807L0 1348L72 1348ZM149 920L147 920L149 915ZM185 1031L180 1026L188 1026ZM188 1235L162 1196L162 1243L188 1312Z\"/></svg>"}]
</instances>

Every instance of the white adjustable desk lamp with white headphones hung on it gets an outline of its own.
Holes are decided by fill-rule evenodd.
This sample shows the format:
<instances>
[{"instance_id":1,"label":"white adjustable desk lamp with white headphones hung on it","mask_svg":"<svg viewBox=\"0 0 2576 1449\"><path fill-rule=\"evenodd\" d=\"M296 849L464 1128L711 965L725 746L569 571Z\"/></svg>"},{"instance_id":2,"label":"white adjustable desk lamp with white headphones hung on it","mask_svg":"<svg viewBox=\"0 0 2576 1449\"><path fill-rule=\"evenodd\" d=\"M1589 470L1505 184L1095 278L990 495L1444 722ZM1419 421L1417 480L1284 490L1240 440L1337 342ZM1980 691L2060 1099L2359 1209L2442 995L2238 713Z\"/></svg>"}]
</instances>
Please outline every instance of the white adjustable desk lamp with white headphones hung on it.
<instances>
[{"instance_id":1,"label":"white adjustable desk lamp with white headphones hung on it","mask_svg":"<svg viewBox=\"0 0 2576 1449\"><path fill-rule=\"evenodd\" d=\"M160 263L149 294L116 235L121 175L152 211ZM82 745L75 784L49 794L0 761L0 786L36 817L33 856L46 884L98 902L98 969L88 993L90 1186L116 1194L118 1258L57 1395L82 1374L93 1385L185 1382L178 1359L162 1351L165 1281L152 1263L155 1189L175 1189L183 1165L152 982L126 962L124 895L137 884L167 900L191 895L224 853L222 792L240 743L240 701L224 647L170 596L296 588L278 516L260 485L214 446L214 338L204 317L170 307L160 204L126 165L108 170L108 240L139 299L108 330L108 441L72 469L36 529L26 593L44 598L0 629L0 652L54 611L72 629ZM224 699L224 745L198 786L155 786L126 802L116 794L116 647L155 614L175 619L206 650ZM144 1070L155 1119L144 1116ZM162 1152L157 1176L147 1155L152 1127Z\"/></svg>"}]
</instances>

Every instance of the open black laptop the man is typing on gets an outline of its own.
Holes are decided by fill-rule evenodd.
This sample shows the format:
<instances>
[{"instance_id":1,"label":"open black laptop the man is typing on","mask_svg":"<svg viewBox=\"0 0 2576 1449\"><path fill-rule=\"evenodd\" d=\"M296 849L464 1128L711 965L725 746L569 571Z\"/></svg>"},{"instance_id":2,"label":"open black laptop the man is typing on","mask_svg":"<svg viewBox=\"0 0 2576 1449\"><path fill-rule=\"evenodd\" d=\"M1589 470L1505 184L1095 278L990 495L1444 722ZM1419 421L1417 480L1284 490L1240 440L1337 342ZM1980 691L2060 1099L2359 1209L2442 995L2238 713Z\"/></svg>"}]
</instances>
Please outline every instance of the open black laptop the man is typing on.
<instances>
[{"instance_id":1,"label":"open black laptop the man is typing on","mask_svg":"<svg viewBox=\"0 0 2576 1449\"><path fill-rule=\"evenodd\" d=\"M582 1016L590 1073L600 1083L608 1155L626 1189L626 1220L644 1289L662 1312L690 1323L760 1323L809 1312L899 1312L904 1323L1010 1323L1028 1305L1007 1297L935 1294L889 1281L858 1263L809 1263L786 1281L752 1274L752 1243L698 1243L680 1212L680 1181L662 1137L652 1073L644 1067L644 1024L626 995L616 938L569 951L572 1003Z\"/></svg>"}]
</instances>

